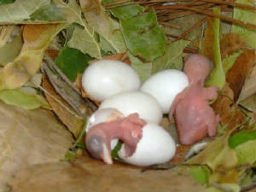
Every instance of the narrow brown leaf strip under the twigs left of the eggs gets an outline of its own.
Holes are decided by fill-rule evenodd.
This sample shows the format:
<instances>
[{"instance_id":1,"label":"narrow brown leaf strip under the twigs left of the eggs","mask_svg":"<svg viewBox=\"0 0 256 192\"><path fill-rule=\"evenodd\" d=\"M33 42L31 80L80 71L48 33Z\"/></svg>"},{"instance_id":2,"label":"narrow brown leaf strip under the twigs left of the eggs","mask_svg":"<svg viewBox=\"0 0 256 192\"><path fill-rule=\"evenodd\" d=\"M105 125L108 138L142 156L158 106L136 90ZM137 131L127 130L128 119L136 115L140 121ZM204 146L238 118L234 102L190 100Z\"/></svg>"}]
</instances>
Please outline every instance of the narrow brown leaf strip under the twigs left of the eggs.
<instances>
[{"instance_id":1,"label":"narrow brown leaf strip under the twigs left of the eggs","mask_svg":"<svg viewBox=\"0 0 256 192\"><path fill-rule=\"evenodd\" d=\"M84 121L74 116L75 111L73 108L71 108L70 105L55 91L54 87L49 83L49 80L45 76L43 78L42 85L50 94L49 96L49 94L46 93L45 97L51 108L53 108L54 112L61 119L63 124L67 126L68 130L73 133L74 137L79 137L79 133L82 131L84 126ZM61 106L60 102L62 105L66 106L66 108ZM67 111L67 108L69 111ZM73 113L70 113L70 111Z\"/></svg>"}]
</instances>

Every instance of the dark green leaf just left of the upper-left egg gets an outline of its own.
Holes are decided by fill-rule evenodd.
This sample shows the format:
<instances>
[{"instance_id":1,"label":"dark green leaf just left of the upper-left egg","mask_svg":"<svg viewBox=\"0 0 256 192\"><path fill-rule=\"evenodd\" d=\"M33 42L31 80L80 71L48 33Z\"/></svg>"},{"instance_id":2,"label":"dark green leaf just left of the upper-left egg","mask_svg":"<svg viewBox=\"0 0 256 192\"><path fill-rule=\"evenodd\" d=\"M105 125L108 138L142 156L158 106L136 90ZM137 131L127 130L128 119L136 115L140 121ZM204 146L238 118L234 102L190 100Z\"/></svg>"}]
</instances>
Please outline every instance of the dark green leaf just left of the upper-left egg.
<instances>
[{"instance_id":1,"label":"dark green leaf just left of the upper-left egg","mask_svg":"<svg viewBox=\"0 0 256 192\"><path fill-rule=\"evenodd\" d=\"M90 55L84 55L79 49L64 47L55 58L55 64L66 74L67 78L75 81L78 73L83 73L88 61L92 60Z\"/></svg>"}]
</instances>

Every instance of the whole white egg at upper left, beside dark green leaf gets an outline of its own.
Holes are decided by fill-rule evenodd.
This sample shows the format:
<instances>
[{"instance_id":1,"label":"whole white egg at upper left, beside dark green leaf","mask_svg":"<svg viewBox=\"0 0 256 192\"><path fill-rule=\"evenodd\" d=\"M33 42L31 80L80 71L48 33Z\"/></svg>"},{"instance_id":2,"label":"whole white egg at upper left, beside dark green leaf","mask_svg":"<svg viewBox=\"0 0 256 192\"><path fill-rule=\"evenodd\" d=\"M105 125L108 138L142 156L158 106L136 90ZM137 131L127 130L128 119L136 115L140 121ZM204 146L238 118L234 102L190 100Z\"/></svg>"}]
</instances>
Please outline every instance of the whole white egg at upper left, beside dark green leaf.
<instances>
[{"instance_id":1,"label":"whole white egg at upper left, beside dark green leaf","mask_svg":"<svg viewBox=\"0 0 256 192\"><path fill-rule=\"evenodd\" d=\"M82 76L83 89L98 102L120 92L138 90L140 84L136 71L121 61L96 61Z\"/></svg>"}]
</instances>

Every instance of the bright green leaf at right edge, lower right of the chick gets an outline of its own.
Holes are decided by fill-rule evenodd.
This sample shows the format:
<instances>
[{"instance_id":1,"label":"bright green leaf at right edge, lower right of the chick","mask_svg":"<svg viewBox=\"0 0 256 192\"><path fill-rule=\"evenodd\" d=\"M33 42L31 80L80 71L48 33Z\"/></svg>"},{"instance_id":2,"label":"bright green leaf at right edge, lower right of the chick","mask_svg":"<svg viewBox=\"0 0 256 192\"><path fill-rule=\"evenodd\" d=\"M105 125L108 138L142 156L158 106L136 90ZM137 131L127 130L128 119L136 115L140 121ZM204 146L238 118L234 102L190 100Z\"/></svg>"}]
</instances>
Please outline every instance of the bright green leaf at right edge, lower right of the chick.
<instances>
[{"instance_id":1,"label":"bright green leaf at right edge, lower right of the chick","mask_svg":"<svg viewBox=\"0 0 256 192\"><path fill-rule=\"evenodd\" d=\"M240 131L229 138L230 148L236 148L247 141L256 140L256 131Z\"/></svg>"}]
</instances>

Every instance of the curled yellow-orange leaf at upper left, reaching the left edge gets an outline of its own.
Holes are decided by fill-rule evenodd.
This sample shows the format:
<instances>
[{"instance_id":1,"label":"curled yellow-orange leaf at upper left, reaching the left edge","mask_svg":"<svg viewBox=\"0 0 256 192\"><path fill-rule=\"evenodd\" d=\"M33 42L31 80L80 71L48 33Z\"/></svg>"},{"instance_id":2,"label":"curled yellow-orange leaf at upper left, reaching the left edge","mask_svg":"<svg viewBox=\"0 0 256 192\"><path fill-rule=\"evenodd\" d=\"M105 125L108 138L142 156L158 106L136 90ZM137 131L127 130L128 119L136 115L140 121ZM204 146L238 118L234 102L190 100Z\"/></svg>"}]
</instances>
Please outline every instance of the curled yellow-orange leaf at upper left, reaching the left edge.
<instances>
[{"instance_id":1,"label":"curled yellow-orange leaf at upper left, reaching the left edge","mask_svg":"<svg viewBox=\"0 0 256 192\"><path fill-rule=\"evenodd\" d=\"M64 27L62 24L26 25L20 55L0 71L0 90L19 88L31 79L41 66L44 49Z\"/></svg>"}]
</instances>

